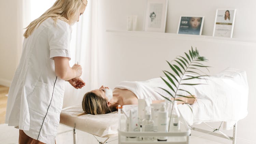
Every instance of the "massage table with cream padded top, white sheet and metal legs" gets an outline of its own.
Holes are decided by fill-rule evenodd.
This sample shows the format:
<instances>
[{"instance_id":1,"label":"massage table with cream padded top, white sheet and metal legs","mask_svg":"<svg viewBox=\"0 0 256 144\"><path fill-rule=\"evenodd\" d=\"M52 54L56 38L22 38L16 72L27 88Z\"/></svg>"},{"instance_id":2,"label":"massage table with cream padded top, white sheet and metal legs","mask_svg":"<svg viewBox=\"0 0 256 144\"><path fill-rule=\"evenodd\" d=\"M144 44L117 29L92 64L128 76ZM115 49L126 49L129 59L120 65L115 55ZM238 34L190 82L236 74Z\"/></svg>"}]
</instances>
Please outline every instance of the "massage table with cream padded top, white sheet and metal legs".
<instances>
[{"instance_id":1,"label":"massage table with cream padded top, white sheet and metal legs","mask_svg":"<svg viewBox=\"0 0 256 144\"><path fill-rule=\"evenodd\" d=\"M211 87L192 86L189 91L198 96L197 102L189 105L178 105L183 118L192 130L209 133L218 137L231 140L236 144L237 122L247 116L248 84L245 71L226 69L217 74L220 79L211 78L207 81ZM213 91L214 90L214 91ZM125 106L124 106L125 107ZM72 106L62 109L60 124L74 129L74 144L76 144L76 129L96 135L110 138L118 135L118 113L112 112L102 115L82 115L82 106ZM233 129L233 135L228 136L220 131L220 127L212 128L212 131L193 127L206 122L222 122L223 129ZM105 141L106 142L106 141ZM104 144L105 142L101 142Z\"/></svg>"}]
</instances>

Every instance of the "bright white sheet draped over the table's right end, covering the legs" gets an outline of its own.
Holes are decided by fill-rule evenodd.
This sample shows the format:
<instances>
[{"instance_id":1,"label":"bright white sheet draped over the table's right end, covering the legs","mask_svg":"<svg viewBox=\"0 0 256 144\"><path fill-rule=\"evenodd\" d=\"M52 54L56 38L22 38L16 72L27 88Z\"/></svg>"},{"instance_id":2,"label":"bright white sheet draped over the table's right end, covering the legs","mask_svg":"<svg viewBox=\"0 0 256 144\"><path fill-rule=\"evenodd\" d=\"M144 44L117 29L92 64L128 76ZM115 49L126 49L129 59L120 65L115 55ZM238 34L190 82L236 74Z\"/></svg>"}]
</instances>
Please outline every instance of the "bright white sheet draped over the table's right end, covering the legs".
<instances>
[{"instance_id":1,"label":"bright white sheet draped over the table's right end, covering the legs","mask_svg":"<svg viewBox=\"0 0 256 144\"><path fill-rule=\"evenodd\" d=\"M203 80L196 80L203 82ZM210 77L207 85L193 86L192 91L198 96L193 109L193 118L185 119L189 124L202 122L231 122L236 123L247 116L248 84L245 71L228 68L221 73ZM181 113L189 108L179 106ZM191 113L190 113L191 114ZM229 127L228 129L232 128Z\"/></svg>"}]
</instances>

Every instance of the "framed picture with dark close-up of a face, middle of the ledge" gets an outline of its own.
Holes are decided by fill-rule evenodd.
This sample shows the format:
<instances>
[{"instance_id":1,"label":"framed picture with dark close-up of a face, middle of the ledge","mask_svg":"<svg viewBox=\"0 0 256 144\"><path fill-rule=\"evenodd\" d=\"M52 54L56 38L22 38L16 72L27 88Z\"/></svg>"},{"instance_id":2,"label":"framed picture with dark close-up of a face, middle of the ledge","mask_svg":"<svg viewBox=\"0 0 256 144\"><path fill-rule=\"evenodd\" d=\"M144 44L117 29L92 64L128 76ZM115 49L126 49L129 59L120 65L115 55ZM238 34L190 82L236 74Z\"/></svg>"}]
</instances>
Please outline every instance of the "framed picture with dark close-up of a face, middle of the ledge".
<instances>
[{"instance_id":1,"label":"framed picture with dark close-up of a face, middle of the ledge","mask_svg":"<svg viewBox=\"0 0 256 144\"><path fill-rule=\"evenodd\" d=\"M177 34L201 35L204 16L181 16Z\"/></svg>"}]
</instances>

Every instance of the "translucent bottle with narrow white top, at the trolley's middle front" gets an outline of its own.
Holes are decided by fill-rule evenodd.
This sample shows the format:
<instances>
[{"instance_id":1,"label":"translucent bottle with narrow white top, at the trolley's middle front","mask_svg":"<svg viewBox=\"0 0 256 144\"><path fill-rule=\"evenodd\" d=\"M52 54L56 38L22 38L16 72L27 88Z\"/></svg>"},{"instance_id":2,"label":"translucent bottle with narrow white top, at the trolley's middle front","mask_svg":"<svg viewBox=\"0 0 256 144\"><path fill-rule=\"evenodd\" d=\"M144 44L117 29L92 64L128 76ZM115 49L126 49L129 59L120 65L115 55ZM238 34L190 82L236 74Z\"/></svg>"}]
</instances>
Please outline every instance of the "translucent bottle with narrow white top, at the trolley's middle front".
<instances>
[{"instance_id":1,"label":"translucent bottle with narrow white top, at the trolley's middle front","mask_svg":"<svg viewBox=\"0 0 256 144\"><path fill-rule=\"evenodd\" d=\"M142 131L143 132L153 132L154 131L154 121L151 118L151 107L146 107L146 115L142 121ZM145 136L143 141L153 141L152 137Z\"/></svg>"}]
</instances>

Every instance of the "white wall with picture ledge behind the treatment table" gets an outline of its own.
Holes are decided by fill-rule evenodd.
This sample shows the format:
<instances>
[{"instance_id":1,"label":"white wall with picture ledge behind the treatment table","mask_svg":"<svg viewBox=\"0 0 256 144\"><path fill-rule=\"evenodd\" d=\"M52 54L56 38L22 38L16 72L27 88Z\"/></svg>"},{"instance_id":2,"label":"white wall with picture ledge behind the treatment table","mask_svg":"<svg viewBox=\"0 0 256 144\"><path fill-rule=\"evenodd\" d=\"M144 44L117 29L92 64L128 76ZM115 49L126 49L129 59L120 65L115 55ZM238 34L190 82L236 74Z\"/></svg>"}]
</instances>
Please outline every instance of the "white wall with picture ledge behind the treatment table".
<instances>
[{"instance_id":1,"label":"white wall with picture ledge behind the treatment table","mask_svg":"<svg viewBox=\"0 0 256 144\"><path fill-rule=\"evenodd\" d=\"M126 16L138 15L138 29L142 30L146 0L101 0L100 26L100 83L114 87L119 81L140 81L162 76L161 70L168 69L165 60L173 60L188 49L197 47L200 54L209 59L211 74L226 67L245 70L249 84L248 116L238 122L238 144L256 143L256 115L254 94L256 90L256 27L251 18L255 13L254 0L246 1L177 1L169 0L166 32L176 33L180 15L204 15L202 35L185 36L143 32L106 32L126 30ZM203 6L202 6L203 5ZM233 39L213 38L213 25L217 8L236 8ZM250 41L248 41L248 39ZM218 123L219 124L219 123ZM217 123L213 124L217 127ZM204 125L199 125L206 128ZM232 131L227 131L232 135ZM199 133L193 132L194 135ZM231 141L214 136L205 136L218 142Z\"/></svg>"}]
</instances>

